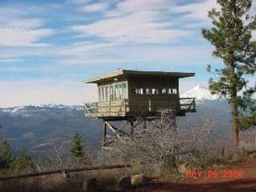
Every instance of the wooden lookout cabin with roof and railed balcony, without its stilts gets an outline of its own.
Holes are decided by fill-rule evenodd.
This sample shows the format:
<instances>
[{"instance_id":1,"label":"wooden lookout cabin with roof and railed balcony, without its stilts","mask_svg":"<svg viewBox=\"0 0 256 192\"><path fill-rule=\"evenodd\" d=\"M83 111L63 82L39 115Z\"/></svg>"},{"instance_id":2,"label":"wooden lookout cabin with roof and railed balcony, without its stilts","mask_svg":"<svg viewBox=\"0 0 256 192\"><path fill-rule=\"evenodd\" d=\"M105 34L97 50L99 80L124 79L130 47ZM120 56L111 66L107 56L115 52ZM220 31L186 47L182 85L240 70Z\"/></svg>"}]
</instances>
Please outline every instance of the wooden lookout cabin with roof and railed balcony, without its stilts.
<instances>
[{"instance_id":1,"label":"wooden lookout cabin with roof and railed balcony, without its stilts","mask_svg":"<svg viewBox=\"0 0 256 192\"><path fill-rule=\"evenodd\" d=\"M89 78L84 82L98 85L98 106L87 115L120 120L154 115L160 109L177 115L195 112L194 98L179 98L178 80L189 77L194 73L118 70Z\"/></svg>"}]
</instances>

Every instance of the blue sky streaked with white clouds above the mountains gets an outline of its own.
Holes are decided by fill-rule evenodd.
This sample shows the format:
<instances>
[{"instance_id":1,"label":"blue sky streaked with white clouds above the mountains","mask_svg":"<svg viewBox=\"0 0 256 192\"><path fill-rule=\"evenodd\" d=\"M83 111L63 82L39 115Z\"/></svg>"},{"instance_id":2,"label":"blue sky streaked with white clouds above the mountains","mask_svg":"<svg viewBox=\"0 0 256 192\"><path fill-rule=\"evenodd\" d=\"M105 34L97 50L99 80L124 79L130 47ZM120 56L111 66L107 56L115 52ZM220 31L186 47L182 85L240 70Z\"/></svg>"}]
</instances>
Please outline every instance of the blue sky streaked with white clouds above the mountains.
<instances>
[{"instance_id":1,"label":"blue sky streaked with white clouds above the mountains","mask_svg":"<svg viewBox=\"0 0 256 192\"><path fill-rule=\"evenodd\" d=\"M82 79L118 69L195 72L182 80L182 92L206 84L206 64L221 65L200 34L214 6L215 0L1 0L0 107L95 101L95 86Z\"/></svg>"}]
</instances>

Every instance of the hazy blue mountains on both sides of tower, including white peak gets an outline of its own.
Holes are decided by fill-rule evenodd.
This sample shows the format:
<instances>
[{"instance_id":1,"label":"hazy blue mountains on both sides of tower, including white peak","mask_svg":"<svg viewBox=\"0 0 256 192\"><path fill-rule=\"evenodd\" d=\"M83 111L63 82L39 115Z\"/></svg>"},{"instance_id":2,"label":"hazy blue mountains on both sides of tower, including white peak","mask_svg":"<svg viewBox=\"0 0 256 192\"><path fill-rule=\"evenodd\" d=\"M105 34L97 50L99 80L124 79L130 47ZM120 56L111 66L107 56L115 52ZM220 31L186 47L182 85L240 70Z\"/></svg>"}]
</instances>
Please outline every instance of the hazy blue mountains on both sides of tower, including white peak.
<instances>
[{"instance_id":1,"label":"hazy blue mountains on both sides of tower, including white peak","mask_svg":"<svg viewBox=\"0 0 256 192\"><path fill-rule=\"evenodd\" d=\"M230 106L224 99L210 94L199 85L181 97L197 98L197 113L178 118L182 129L202 126L207 122L221 135L230 134ZM14 150L49 153L57 146L69 151L75 132L82 134L90 148L98 149L102 141L102 121L84 116L83 106L42 105L0 108L0 138L7 138Z\"/></svg>"}]
</instances>

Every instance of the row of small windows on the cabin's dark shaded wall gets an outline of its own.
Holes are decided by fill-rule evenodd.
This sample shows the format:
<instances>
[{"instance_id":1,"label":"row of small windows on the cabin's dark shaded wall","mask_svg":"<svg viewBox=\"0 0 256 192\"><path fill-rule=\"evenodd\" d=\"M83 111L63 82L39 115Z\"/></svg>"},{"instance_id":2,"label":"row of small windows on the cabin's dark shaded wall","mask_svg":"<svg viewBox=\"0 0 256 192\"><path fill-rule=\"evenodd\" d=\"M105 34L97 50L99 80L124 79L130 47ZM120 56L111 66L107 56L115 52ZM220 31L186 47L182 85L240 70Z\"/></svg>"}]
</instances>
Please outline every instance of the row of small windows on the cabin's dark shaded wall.
<instances>
[{"instance_id":1,"label":"row of small windows on the cabin's dark shaded wall","mask_svg":"<svg viewBox=\"0 0 256 192\"><path fill-rule=\"evenodd\" d=\"M178 94L178 90L176 88L136 88L132 89L133 94Z\"/></svg>"}]
</instances>

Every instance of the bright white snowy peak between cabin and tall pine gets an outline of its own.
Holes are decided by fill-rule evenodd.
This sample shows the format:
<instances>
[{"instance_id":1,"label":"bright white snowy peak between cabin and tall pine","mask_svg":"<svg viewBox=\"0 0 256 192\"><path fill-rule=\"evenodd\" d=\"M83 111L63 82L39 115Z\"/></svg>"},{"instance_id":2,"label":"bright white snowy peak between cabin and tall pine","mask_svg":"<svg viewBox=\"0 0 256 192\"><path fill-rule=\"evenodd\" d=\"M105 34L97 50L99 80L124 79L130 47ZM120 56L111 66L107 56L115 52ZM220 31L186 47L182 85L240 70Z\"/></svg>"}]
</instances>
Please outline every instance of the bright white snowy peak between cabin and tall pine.
<instances>
[{"instance_id":1,"label":"bright white snowy peak between cabin and tall pine","mask_svg":"<svg viewBox=\"0 0 256 192\"><path fill-rule=\"evenodd\" d=\"M198 101L200 100L215 100L218 99L218 95L211 94L210 90L203 86L202 84L199 84L198 86L195 86L193 89L186 91L186 93L181 95L181 98L196 98Z\"/></svg>"}]
</instances>

